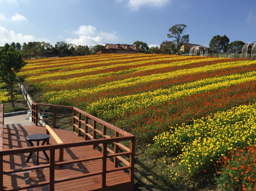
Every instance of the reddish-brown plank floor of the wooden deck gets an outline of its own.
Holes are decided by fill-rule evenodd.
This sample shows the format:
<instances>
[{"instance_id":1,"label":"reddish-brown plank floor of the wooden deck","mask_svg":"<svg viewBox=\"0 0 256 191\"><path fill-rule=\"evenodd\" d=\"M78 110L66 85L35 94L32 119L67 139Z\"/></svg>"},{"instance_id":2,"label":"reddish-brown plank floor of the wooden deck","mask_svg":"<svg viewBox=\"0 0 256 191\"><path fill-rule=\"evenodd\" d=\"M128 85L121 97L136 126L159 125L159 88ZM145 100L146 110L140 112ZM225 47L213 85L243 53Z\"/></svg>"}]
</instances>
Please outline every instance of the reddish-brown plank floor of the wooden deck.
<instances>
[{"instance_id":1,"label":"reddish-brown plank floor of the wooden deck","mask_svg":"<svg viewBox=\"0 0 256 191\"><path fill-rule=\"evenodd\" d=\"M53 129L54 132L59 136L59 138L65 143L70 141L83 141L81 136L73 131L66 131L61 129ZM4 126L4 150L14 149L21 147L30 147L30 144L26 141L25 137L28 135L36 133L45 133L45 127L39 126ZM50 144L56 144L56 141L50 137ZM46 151L50 155L49 151ZM37 165L36 155L33 153L30 162L26 163L26 158L28 158L29 153L20 155L9 155L4 156L4 171L10 169L19 169L20 167L31 167ZM87 158L101 155L100 151L92 149L91 146L82 146L64 149L64 161L65 160L76 160L79 158ZM55 161L58 162L59 158L58 150L55 152ZM39 152L39 164L49 164L46 160L43 152ZM109 159L107 161L107 169L113 167L113 162ZM60 180L72 175L92 173L101 170L101 160L91 160L86 162L74 163L64 165L63 167L55 167L55 179ZM4 187L15 187L22 184L31 184L35 182L44 182L49 177L49 168L42 168L32 171L25 171L20 173L13 173L10 175L4 175ZM113 189L113 184L116 182L119 184L115 189ZM120 184L122 183L123 184ZM107 173L106 175L106 188L111 188L111 190L133 190L133 184L128 184L129 175L124 173L124 171L116 171ZM95 190L97 187L100 188L101 176L96 175L93 177L80 178L77 180L70 180L67 182L60 182L55 184L55 190ZM123 185L123 186L122 186ZM25 189L27 190L27 189ZM30 188L29 190L43 190L48 191L48 185L38 188Z\"/></svg>"}]
</instances>

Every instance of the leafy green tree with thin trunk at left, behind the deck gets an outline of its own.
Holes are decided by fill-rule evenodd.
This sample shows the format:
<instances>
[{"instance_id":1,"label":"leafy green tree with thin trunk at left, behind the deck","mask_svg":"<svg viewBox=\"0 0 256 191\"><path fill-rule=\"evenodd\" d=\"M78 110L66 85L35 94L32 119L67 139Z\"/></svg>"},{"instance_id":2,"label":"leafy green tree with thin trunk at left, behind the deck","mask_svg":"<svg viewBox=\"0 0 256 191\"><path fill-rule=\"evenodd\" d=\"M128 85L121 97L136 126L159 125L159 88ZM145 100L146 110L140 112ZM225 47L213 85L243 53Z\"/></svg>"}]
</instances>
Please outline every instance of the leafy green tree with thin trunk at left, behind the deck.
<instances>
[{"instance_id":1,"label":"leafy green tree with thin trunk at left, behind the deck","mask_svg":"<svg viewBox=\"0 0 256 191\"><path fill-rule=\"evenodd\" d=\"M13 86L17 79L16 73L25 65L26 62L24 62L23 55L20 51L16 51L9 44L0 47L0 81L9 85L12 107L15 107L13 104Z\"/></svg>"}]
</instances>

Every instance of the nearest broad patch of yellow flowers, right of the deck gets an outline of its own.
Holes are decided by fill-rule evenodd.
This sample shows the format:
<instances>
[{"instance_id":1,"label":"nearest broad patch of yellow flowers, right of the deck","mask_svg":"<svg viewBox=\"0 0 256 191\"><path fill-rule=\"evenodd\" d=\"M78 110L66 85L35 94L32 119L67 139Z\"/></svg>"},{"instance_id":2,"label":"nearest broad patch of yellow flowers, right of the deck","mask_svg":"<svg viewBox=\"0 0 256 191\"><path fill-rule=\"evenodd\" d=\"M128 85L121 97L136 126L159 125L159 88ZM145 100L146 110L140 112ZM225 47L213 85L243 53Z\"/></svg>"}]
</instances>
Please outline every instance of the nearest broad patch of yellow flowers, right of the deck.
<instances>
[{"instance_id":1,"label":"nearest broad patch of yellow flowers, right of the deck","mask_svg":"<svg viewBox=\"0 0 256 191\"><path fill-rule=\"evenodd\" d=\"M213 165L224 153L256 144L256 104L234 107L155 136L153 149L181 153L174 160L191 173Z\"/></svg>"}]
</instances>

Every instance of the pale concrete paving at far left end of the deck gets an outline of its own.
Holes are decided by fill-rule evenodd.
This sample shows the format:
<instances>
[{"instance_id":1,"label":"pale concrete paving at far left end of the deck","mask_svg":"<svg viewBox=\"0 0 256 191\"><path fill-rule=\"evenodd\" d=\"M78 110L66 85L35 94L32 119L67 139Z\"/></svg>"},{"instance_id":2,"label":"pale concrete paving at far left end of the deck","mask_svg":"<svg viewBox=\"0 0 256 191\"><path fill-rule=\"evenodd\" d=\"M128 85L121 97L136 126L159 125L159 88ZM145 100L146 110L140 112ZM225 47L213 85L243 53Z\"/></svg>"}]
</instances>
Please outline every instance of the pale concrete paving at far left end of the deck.
<instances>
[{"instance_id":1,"label":"pale concrete paving at far left end of the deck","mask_svg":"<svg viewBox=\"0 0 256 191\"><path fill-rule=\"evenodd\" d=\"M4 118L4 125L15 124L20 126L34 126L35 124L31 122L28 118L28 114L15 115Z\"/></svg>"}]
</instances>

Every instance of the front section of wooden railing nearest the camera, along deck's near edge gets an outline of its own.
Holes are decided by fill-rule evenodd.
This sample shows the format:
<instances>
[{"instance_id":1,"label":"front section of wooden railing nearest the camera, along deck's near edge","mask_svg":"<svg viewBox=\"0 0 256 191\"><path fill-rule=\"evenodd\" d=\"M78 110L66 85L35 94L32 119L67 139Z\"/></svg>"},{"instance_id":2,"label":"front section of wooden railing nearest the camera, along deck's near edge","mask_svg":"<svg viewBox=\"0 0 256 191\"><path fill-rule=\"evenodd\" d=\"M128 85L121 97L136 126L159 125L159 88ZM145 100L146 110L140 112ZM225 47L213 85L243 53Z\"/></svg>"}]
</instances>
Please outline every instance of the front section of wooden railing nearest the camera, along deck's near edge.
<instances>
[{"instance_id":1,"label":"front section of wooden railing nearest the camera, along deck's near edge","mask_svg":"<svg viewBox=\"0 0 256 191\"><path fill-rule=\"evenodd\" d=\"M120 141L128 141L130 140L130 150L129 152L123 152L123 153L116 153L116 154L108 154L107 151L107 144L112 142L120 142ZM93 157L87 157L87 158L80 158L76 160L67 160L64 162L55 162L55 150L56 149L65 149L70 147L81 147L81 146L89 146L89 145L96 145L101 144L102 145L102 153L98 156ZM69 142L69 143L62 143L62 144L52 144L52 145L44 145L44 146L34 146L34 147L26 147L26 148L17 148L17 149L6 149L3 151L0 151L0 188L3 188L3 175L11 174L11 173L18 173L18 172L24 172L24 171L31 171L35 169L42 169L49 167L49 180L45 182L38 182L38 183L32 183L30 185L24 184L19 185L16 187L8 187L5 189L2 189L3 191L16 191L20 189L29 189L33 187L38 186L45 186L49 185L49 190L54 190L54 184L59 182L65 182L69 180L75 180L78 178L85 178L88 176L95 176L95 175L101 175L101 187L106 186L106 173L111 173L115 171L125 170L129 169L129 180L134 180L134 144L135 144L135 136L122 136L122 137L114 137L114 138L104 138L104 139L98 139L98 140L87 140L82 142ZM19 155L23 153L30 153L30 152L37 152L37 151L50 151L50 159L49 164L41 164L38 166L32 166L32 167L24 167L19 169L10 169L3 171L3 156L9 156L9 155ZM130 155L130 162L128 166L124 167L115 167L107 169L107 158L115 157L115 156L122 156L122 155ZM54 171L55 166L59 165L65 165L65 164L73 164L78 162L85 162L89 160L102 160L102 166L101 170L98 170L93 173L87 173L83 175L75 175L75 176L68 176L66 178L60 178L55 179L54 178Z\"/></svg>"}]
</instances>

